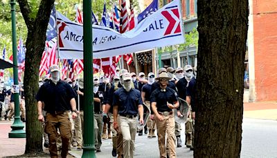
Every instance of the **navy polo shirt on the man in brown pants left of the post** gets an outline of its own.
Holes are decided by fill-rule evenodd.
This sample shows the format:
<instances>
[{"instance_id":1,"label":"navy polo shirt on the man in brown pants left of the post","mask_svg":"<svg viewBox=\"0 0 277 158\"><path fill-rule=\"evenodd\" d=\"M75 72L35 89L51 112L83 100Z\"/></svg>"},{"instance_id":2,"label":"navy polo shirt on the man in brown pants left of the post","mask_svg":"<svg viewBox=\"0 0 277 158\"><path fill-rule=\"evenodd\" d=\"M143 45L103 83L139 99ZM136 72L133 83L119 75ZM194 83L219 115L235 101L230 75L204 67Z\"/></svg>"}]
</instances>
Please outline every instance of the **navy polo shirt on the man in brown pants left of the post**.
<instances>
[{"instance_id":1,"label":"navy polo shirt on the man in brown pants left of the post","mask_svg":"<svg viewBox=\"0 0 277 158\"><path fill-rule=\"evenodd\" d=\"M76 94L71 86L62 80L57 85L48 80L39 88L37 101L44 102L44 110L48 113L64 112L71 109L70 100L75 98Z\"/></svg>"}]
</instances>

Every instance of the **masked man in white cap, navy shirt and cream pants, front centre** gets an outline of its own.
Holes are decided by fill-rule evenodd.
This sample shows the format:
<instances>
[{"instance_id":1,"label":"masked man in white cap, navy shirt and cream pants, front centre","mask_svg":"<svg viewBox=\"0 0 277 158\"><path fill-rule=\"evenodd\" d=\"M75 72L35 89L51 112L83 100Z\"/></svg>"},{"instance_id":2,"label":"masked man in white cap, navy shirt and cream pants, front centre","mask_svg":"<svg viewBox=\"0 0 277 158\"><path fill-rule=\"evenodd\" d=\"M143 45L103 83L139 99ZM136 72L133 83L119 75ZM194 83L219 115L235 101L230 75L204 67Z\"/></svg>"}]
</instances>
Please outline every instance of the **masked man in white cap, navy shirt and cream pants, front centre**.
<instances>
[{"instance_id":1,"label":"masked man in white cap, navy shirt and cream pants, front centre","mask_svg":"<svg viewBox=\"0 0 277 158\"><path fill-rule=\"evenodd\" d=\"M137 115L143 124L143 102L141 92L132 88L132 78L129 73L123 73L123 88L114 92L114 128L120 125L123 134L123 156L134 157L134 141L137 130ZM119 123L117 122L119 114Z\"/></svg>"}]
</instances>

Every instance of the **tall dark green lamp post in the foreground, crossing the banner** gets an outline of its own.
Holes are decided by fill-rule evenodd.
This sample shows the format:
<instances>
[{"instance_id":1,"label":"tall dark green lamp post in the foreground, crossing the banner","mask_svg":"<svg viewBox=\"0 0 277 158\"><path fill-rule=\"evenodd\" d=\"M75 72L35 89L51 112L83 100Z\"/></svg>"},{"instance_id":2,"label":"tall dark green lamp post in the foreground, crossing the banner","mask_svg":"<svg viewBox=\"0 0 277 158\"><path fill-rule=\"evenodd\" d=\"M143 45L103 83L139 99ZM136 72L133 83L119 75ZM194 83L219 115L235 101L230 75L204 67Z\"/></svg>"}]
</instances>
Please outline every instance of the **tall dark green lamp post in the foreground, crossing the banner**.
<instances>
[{"instance_id":1,"label":"tall dark green lamp post in the foreground, crossing the banner","mask_svg":"<svg viewBox=\"0 0 277 158\"><path fill-rule=\"evenodd\" d=\"M92 85L92 23L91 0L83 1L84 10L84 146L82 157L94 158L94 119L93 119L93 85Z\"/></svg>"}]
</instances>

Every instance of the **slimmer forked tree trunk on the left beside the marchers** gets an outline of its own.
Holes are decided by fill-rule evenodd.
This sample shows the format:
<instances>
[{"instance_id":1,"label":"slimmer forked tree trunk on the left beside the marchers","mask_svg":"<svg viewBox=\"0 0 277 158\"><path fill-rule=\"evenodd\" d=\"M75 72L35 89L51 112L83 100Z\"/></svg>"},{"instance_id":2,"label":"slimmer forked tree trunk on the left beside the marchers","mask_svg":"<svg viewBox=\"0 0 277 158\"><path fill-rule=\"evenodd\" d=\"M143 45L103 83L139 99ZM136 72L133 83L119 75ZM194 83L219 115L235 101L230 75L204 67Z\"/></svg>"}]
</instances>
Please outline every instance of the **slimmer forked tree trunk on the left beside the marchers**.
<instances>
[{"instance_id":1,"label":"slimmer forked tree trunk on the left beside the marchers","mask_svg":"<svg viewBox=\"0 0 277 158\"><path fill-rule=\"evenodd\" d=\"M26 40L26 59L24 73L24 91L26 98L26 149L25 154L37 155L42 150L42 123L37 120L37 101L39 89L39 64L44 51L46 28L53 8L54 0L42 0L35 19L30 18L30 8L25 0L19 0L22 15L28 26ZM25 8L25 9L24 9Z\"/></svg>"}]
</instances>

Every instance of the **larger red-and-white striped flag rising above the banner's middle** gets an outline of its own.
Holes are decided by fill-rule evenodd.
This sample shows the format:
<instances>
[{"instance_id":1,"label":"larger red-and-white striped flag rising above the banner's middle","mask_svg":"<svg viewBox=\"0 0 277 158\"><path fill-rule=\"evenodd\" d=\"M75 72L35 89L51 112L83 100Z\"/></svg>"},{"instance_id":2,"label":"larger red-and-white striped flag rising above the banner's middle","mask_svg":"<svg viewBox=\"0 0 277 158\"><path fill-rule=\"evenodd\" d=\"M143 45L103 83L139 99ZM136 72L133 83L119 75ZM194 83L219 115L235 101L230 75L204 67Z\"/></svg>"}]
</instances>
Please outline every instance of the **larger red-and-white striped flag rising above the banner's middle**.
<instances>
[{"instance_id":1,"label":"larger red-and-white striped flag rising above the banner's middle","mask_svg":"<svg viewBox=\"0 0 277 158\"><path fill-rule=\"evenodd\" d=\"M125 33L129 30L128 26L129 20L127 15L126 1L121 2L121 12L120 12L120 33Z\"/></svg>"}]
</instances>

